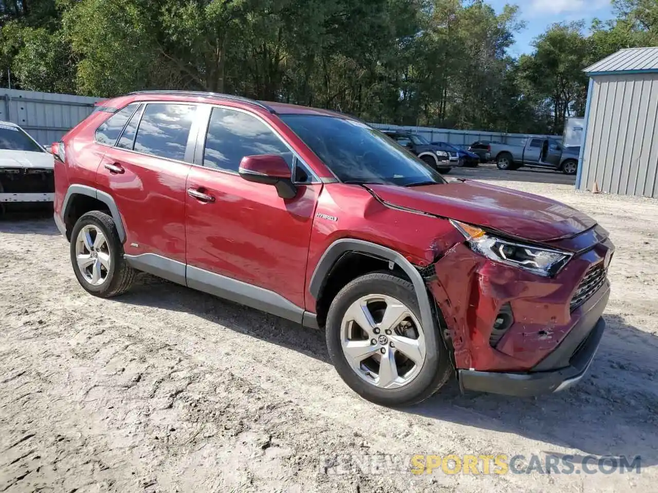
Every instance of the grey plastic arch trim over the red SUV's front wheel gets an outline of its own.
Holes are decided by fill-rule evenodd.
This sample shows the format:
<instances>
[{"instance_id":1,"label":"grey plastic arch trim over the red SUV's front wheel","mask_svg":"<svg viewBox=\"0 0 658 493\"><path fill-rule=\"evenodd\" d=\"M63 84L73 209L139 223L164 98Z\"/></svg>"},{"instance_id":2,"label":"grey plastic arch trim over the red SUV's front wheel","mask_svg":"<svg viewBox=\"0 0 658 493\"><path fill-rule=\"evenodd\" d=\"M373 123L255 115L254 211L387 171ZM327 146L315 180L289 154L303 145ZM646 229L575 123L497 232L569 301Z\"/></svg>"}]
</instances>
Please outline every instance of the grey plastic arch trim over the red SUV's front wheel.
<instances>
[{"instance_id":1,"label":"grey plastic arch trim over the red SUV's front wheel","mask_svg":"<svg viewBox=\"0 0 658 493\"><path fill-rule=\"evenodd\" d=\"M336 261L347 252L359 252L370 256L376 256L393 262L405 271L409 276L409 279L411 279L411 283L413 283L414 291L418 298L422 325L424 327L432 327L432 324L434 323L432 304L430 303L427 287L420 276L420 272L418 272L409 260L395 250L382 247L382 245L376 243L370 243L369 241L343 238L334 241L334 243L325 250L320 261L315 266L313 276L311 277L311 283L309 284L309 291L313 294L316 300L320 295L320 291L322 291L326 276L331 271L334 264L336 264Z\"/></svg>"}]
</instances>

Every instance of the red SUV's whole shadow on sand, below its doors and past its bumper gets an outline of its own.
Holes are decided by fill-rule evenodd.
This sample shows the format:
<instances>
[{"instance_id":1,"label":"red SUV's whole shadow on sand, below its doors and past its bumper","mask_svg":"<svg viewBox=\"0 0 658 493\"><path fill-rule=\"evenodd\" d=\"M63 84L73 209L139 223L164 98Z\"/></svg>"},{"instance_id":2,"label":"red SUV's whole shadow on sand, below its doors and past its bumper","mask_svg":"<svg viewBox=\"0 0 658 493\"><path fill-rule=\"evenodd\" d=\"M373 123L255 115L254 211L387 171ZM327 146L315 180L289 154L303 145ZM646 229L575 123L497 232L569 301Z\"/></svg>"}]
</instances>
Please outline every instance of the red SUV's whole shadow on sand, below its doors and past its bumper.
<instances>
[{"instance_id":1,"label":"red SUV's whole shadow on sand, below its doors and past its bumper","mask_svg":"<svg viewBox=\"0 0 658 493\"><path fill-rule=\"evenodd\" d=\"M221 300L209 294L140 275L130 293L116 300L180 310L233 331L278 344L330 363L324 333ZM525 436L586 456L642 457L642 467L658 464L658 338L606 316L607 333L588 375L576 387L536 398L461 394L456 379L432 398L401 411L501 433ZM647 362L647 365L644 364ZM552 450L492 451L555 454ZM559 454L557 454L559 455ZM576 454L576 460L578 455Z\"/></svg>"}]
</instances>

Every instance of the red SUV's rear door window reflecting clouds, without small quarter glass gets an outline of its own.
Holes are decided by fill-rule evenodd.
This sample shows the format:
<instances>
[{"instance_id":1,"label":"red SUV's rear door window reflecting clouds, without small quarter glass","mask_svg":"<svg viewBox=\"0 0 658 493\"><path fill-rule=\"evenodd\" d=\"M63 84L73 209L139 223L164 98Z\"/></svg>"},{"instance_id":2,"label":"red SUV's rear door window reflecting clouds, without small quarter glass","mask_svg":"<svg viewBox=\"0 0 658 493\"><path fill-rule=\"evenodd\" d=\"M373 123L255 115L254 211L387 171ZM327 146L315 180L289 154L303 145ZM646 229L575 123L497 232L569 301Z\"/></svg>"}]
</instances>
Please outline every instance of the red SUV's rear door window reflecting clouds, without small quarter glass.
<instances>
[{"instance_id":1,"label":"red SUV's rear door window reflecting clouds, without small quarter glass","mask_svg":"<svg viewBox=\"0 0 658 493\"><path fill-rule=\"evenodd\" d=\"M135 138L135 151L183 160L196 106L179 103L146 105Z\"/></svg>"}]
</instances>

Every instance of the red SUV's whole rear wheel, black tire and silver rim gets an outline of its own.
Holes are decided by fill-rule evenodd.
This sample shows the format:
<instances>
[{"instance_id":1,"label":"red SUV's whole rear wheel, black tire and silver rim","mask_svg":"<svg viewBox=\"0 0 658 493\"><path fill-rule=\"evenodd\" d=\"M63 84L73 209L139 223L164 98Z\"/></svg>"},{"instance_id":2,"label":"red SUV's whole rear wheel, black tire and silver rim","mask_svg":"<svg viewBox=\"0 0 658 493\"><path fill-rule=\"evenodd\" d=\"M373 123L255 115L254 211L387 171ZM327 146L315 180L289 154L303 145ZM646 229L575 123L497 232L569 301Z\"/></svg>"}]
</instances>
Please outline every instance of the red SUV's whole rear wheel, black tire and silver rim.
<instances>
[{"instance_id":1,"label":"red SUV's whole rear wheel, black tire and silver rim","mask_svg":"<svg viewBox=\"0 0 658 493\"><path fill-rule=\"evenodd\" d=\"M105 212L93 210L78 219L70 253L73 271L88 293L111 298L130 289L136 271L126 263L114 221Z\"/></svg>"}]
</instances>

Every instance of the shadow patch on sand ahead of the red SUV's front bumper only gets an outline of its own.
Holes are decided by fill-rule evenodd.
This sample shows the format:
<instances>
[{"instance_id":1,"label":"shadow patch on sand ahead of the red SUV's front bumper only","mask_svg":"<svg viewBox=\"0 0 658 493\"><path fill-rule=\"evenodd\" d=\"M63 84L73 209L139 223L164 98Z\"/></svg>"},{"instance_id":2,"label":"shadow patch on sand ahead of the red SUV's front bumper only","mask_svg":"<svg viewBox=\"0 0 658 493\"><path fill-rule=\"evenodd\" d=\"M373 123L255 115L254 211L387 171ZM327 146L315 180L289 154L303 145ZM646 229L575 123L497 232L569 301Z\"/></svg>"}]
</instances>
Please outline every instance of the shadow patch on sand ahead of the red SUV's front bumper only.
<instances>
[{"instance_id":1,"label":"shadow patch on sand ahead of the red SUV's front bumper only","mask_svg":"<svg viewBox=\"0 0 658 493\"><path fill-rule=\"evenodd\" d=\"M461 394L456 379L412 408L418 415L525 436L587 455L658 464L658 337L605 315L607 332L588 374L563 392L535 398ZM504 454L557 454L503 450ZM561 454L557 454L561 455Z\"/></svg>"}]
</instances>

